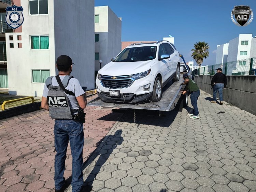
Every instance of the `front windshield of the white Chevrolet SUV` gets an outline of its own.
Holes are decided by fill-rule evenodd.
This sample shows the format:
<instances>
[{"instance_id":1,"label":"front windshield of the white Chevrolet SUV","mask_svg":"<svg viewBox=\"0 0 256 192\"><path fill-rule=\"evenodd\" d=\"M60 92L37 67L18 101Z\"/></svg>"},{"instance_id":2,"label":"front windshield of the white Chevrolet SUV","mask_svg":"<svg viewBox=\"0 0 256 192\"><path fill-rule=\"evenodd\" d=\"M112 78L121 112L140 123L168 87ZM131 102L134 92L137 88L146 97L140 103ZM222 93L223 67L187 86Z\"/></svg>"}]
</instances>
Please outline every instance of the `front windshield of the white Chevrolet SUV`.
<instances>
[{"instance_id":1,"label":"front windshield of the white Chevrolet SUV","mask_svg":"<svg viewBox=\"0 0 256 192\"><path fill-rule=\"evenodd\" d=\"M125 48L113 62L147 61L156 58L157 46Z\"/></svg>"}]
</instances>

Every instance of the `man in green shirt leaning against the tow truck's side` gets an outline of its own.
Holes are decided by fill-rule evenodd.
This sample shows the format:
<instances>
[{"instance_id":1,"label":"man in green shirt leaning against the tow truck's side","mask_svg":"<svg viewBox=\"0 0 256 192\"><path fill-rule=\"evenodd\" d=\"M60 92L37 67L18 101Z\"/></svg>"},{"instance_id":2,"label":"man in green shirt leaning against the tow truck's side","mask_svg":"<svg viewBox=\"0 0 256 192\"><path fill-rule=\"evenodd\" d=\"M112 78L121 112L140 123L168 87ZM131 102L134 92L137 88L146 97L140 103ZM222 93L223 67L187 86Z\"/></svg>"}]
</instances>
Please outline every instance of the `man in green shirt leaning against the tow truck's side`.
<instances>
[{"instance_id":1,"label":"man in green shirt leaning against the tow truck's side","mask_svg":"<svg viewBox=\"0 0 256 192\"><path fill-rule=\"evenodd\" d=\"M198 112L198 107L197 107L197 100L200 95L200 90L199 90L197 84L192 79L190 79L188 77L187 73L184 73L182 76L185 81L181 85L186 85L182 94L184 95L187 92L187 90L189 90L191 105L193 106L193 113L188 114L188 116L190 117L190 119L198 119L199 112Z\"/></svg>"}]
</instances>

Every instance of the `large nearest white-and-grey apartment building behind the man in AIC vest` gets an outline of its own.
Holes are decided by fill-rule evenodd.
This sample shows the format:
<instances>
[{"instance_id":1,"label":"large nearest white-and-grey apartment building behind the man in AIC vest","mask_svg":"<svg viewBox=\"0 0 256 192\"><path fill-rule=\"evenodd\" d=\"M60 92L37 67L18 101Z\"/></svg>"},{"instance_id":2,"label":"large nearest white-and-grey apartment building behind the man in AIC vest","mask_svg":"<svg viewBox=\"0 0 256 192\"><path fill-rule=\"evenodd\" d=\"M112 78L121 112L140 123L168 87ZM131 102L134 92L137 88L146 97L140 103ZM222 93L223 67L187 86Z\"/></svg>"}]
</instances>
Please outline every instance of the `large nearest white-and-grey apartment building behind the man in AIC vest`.
<instances>
[{"instance_id":1,"label":"large nearest white-and-grey apartment building behind the man in AIC vest","mask_svg":"<svg viewBox=\"0 0 256 192\"><path fill-rule=\"evenodd\" d=\"M13 2L24 9L24 23L6 33L9 94L41 97L60 55L71 57L81 86L94 89L94 0Z\"/></svg>"}]
</instances>

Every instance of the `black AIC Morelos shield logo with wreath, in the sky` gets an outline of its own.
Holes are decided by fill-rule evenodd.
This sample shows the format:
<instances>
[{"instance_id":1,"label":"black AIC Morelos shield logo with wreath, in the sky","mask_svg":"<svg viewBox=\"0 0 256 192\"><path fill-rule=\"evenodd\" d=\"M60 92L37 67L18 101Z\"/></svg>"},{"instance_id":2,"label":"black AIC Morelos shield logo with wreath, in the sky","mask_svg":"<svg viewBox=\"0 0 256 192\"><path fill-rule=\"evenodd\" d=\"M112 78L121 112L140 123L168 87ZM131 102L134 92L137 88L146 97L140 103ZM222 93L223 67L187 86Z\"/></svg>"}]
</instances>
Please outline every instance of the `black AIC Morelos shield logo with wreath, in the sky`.
<instances>
[{"instance_id":1,"label":"black AIC Morelos shield logo with wreath, in the sky","mask_svg":"<svg viewBox=\"0 0 256 192\"><path fill-rule=\"evenodd\" d=\"M234 20L233 15L237 22ZM249 20L250 15L251 19ZM250 6L234 6L234 9L232 10L230 17L233 23L237 26L247 26L253 20L253 11L252 9L250 9Z\"/></svg>"}]
</instances>

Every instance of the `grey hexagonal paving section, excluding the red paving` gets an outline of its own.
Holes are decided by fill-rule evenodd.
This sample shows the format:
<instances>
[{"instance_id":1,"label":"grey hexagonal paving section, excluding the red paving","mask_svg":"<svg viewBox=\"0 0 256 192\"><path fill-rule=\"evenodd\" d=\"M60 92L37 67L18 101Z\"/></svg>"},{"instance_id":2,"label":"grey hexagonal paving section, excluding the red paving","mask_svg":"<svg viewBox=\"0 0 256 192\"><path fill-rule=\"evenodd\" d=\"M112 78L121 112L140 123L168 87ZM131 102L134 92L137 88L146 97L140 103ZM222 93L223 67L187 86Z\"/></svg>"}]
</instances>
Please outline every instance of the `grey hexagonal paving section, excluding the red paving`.
<instances>
[{"instance_id":1,"label":"grey hexagonal paving section, excluding the red paving","mask_svg":"<svg viewBox=\"0 0 256 192\"><path fill-rule=\"evenodd\" d=\"M95 192L256 191L256 116L210 101L201 91L194 120L190 103L137 116L139 124L125 114L86 167L85 184Z\"/></svg>"}]
</instances>

